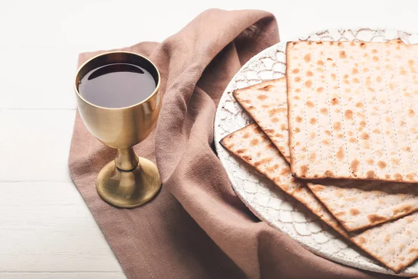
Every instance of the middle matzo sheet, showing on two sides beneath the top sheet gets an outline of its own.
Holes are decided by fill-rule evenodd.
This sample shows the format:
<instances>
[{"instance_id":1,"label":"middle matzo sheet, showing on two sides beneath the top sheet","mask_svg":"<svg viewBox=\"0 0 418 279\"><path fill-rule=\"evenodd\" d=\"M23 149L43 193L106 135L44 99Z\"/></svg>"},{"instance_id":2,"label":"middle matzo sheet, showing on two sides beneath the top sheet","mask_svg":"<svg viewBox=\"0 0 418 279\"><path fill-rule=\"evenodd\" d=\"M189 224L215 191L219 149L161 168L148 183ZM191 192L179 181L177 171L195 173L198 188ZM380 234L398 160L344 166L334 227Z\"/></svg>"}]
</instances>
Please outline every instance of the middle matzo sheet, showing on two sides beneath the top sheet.
<instances>
[{"instance_id":1,"label":"middle matzo sheet, showing on two sides beneath the top sheet","mask_svg":"<svg viewBox=\"0 0 418 279\"><path fill-rule=\"evenodd\" d=\"M290 163L286 79L238 89L233 95ZM418 210L418 186L413 183L332 179L307 185L349 232Z\"/></svg>"}]
</instances>

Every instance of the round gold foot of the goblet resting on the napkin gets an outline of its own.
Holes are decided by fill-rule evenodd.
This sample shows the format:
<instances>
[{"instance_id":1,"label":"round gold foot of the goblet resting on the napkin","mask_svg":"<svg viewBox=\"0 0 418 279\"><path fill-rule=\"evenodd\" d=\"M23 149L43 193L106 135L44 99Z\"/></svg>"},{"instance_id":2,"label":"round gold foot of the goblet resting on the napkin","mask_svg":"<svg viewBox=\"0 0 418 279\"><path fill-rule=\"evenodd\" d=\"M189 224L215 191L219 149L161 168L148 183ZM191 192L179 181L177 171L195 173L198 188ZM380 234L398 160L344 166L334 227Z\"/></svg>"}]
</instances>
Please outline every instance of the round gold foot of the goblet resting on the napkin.
<instances>
[{"instance_id":1,"label":"round gold foot of the goblet resting on the napkin","mask_svg":"<svg viewBox=\"0 0 418 279\"><path fill-rule=\"evenodd\" d=\"M96 187L100 197L111 205L137 207L157 195L161 188L160 173L146 158L139 157L137 167L130 171L118 169L113 160L100 170Z\"/></svg>"}]
</instances>

